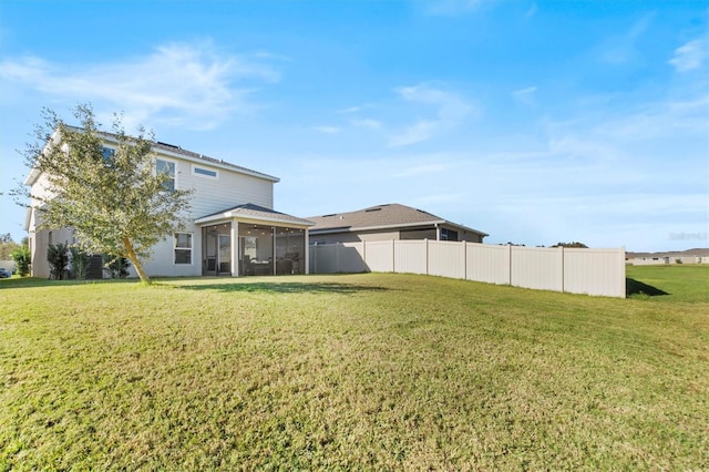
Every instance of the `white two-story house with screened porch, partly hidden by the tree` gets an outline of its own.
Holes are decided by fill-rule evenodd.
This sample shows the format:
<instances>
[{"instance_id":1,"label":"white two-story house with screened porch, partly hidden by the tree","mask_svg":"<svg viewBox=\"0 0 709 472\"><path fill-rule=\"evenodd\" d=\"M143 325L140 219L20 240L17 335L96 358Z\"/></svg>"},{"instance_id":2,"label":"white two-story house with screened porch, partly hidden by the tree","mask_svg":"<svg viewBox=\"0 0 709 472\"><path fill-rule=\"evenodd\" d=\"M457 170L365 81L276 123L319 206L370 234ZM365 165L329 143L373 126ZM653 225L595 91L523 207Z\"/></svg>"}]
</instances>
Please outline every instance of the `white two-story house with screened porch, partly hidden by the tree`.
<instances>
[{"instance_id":1,"label":"white two-story house with screened porch, partly hidden by the tree","mask_svg":"<svg viewBox=\"0 0 709 472\"><path fill-rule=\"evenodd\" d=\"M116 145L112 134L101 135L107 150ZM156 168L172 176L169 186L194 194L186 227L154 246L144 261L148 276L307 274L312 223L273 209L278 177L166 143L153 143L153 152ZM33 195L47 195L41 173L30 172L24 184ZM32 276L49 277L48 245L74 243L74 236L70 228L38 229L37 205L31 203L25 220Z\"/></svg>"}]
</instances>

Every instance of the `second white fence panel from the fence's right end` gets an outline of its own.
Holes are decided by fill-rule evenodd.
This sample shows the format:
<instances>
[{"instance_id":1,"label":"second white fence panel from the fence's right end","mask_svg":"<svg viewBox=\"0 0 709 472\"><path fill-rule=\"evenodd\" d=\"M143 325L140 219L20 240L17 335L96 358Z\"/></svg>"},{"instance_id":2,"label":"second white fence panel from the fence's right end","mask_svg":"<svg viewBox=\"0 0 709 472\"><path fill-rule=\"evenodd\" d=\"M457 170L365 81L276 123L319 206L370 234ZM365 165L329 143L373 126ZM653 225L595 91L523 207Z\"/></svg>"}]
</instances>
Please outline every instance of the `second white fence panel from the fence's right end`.
<instances>
[{"instance_id":1,"label":"second white fence panel from the fence's right end","mask_svg":"<svg viewBox=\"0 0 709 472\"><path fill-rule=\"evenodd\" d=\"M564 249L512 246L512 277L515 287L564 291Z\"/></svg>"}]
</instances>

